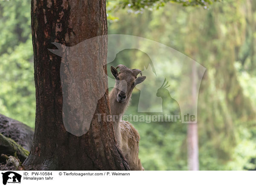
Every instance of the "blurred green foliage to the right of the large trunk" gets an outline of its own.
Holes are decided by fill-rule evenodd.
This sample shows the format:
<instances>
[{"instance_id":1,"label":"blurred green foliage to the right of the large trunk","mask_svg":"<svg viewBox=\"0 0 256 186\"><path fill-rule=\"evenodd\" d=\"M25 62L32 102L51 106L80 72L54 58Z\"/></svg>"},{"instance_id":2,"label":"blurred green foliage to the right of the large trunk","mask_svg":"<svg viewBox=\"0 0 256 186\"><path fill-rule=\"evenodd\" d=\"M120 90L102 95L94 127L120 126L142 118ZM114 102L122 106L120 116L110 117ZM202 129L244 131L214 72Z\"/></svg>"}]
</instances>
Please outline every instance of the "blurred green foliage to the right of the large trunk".
<instances>
[{"instance_id":1,"label":"blurred green foliage to the right of the large trunk","mask_svg":"<svg viewBox=\"0 0 256 186\"><path fill-rule=\"evenodd\" d=\"M158 41L207 68L198 97L201 170L255 169L256 76L252 67L256 57L251 41L252 35L256 35L255 4L249 0L228 0L212 4L209 10L171 3L154 11L110 9L118 20L109 20L109 34ZM143 69L140 64L145 58L139 54L131 56L127 60L130 66ZM179 71L169 67L164 56L157 61L166 70ZM120 63L126 62L121 59ZM178 85L175 81L170 84L175 91ZM127 113L136 113L139 93L133 93ZM140 158L146 170L187 169L185 124L133 124L141 136Z\"/></svg>"}]
</instances>

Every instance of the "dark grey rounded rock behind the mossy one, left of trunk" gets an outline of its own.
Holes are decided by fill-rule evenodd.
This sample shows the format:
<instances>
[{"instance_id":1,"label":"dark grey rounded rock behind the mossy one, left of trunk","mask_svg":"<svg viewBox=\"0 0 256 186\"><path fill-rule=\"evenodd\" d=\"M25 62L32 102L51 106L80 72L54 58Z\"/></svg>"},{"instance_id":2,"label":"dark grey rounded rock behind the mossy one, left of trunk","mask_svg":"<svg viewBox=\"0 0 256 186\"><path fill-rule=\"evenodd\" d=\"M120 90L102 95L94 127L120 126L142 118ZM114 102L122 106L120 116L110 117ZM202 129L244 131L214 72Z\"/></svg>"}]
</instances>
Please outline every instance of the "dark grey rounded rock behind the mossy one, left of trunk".
<instances>
[{"instance_id":1,"label":"dark grey rounded rock behind the mossy one, left of trunk","mask_svg":"<svg viewBox=\"0 0 256 186\"><path fill-rule=\"evenodd\" d=\"M31 127L0 114L0 133L30 151L34 138L34 130Z\"/></svg>"}]
</instances>

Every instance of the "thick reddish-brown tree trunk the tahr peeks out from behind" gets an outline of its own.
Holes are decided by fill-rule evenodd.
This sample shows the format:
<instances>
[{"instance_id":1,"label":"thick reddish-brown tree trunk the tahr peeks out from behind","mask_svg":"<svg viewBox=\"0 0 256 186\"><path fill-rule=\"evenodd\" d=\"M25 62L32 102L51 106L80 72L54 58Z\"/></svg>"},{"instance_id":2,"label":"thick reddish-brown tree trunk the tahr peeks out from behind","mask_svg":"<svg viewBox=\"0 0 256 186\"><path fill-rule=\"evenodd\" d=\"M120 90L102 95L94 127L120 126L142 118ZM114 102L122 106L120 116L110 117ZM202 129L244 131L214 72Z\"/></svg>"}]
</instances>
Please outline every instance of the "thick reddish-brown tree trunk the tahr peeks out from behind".
<instances>
[{"instance_id":1,"label":"thick reddish-brown tree trunk the tahr peeks out from behind","mask_svg":"<svg viewBox=\"0 0 256 186\"><path fill-rule=\"evenodd\" d=\"M66 131L62 118L61 58L48 50L54 47L52 42L74 46L88 38L106 35L105 4L105 0L32 0L36 118L33 146L23 163L25 169L129 169L116 145L113 123L97 120L96 113L110 113L108 91L99 99L86 134L77 137ZM107 39L98 45L101 56L95 59L96 68L91 69L92 73L106 63ZM103 61L100 60L102 58ZM87 62L85 59L84 63ZM106 72L106 68L104 70ZM107 79L104 81L107 82Z\"/></svg>"}]
</instances>

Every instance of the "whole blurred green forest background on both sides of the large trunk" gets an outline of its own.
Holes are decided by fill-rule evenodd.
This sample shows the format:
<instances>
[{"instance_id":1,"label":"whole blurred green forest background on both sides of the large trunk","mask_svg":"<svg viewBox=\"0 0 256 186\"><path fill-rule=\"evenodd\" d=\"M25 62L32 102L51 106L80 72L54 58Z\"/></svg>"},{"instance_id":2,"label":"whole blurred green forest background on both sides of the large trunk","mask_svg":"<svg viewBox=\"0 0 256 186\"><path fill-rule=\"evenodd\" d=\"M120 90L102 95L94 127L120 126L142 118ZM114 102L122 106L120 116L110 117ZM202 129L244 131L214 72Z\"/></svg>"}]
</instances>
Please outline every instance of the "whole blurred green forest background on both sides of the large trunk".
<instances>
[{"instance_id":1,"label":"whole blurred green forest background on both sides of the large trunk","mask_svg":"<svg viewBox=\"0 0 256 186\"><path fill-rule=\"evenodd\" d=\"M200 170L256 170L256 1L143 8L123 2L107 3L108 34L158 41L207 68L198 97ZM131 53L129 65L143 68L143 53ZM134 90L127 113L136 113L139 95ZM30 0L0 1L0 113L35 125ZM134 125L145 170L188 169L186 124Z\"/></svg>"}]
</instances>

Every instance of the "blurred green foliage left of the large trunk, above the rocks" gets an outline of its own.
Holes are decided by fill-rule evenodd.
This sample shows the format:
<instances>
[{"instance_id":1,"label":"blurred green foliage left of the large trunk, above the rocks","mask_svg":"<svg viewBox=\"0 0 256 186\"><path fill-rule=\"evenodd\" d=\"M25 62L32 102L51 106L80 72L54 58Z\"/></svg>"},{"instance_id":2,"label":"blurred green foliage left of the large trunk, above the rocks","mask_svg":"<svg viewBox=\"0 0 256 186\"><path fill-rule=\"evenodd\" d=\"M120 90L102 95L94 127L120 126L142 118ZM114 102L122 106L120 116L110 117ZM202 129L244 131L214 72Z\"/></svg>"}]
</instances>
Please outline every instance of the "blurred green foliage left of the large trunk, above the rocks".
<instances>
[{"instance_id":1,"label":"blurred green foliage left of the large trunk, above the rocks","mask_svg":"<svg viewBox=\"0 0 256 186\"><path fill-rule=\"evenodd\" d=\"M30 1L0 1L0 113L35 125Z\"/></svg>"}]
</instances>

